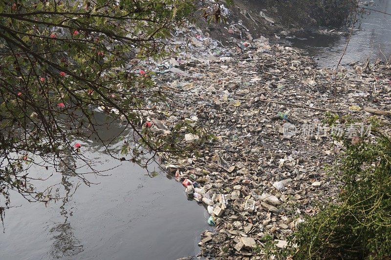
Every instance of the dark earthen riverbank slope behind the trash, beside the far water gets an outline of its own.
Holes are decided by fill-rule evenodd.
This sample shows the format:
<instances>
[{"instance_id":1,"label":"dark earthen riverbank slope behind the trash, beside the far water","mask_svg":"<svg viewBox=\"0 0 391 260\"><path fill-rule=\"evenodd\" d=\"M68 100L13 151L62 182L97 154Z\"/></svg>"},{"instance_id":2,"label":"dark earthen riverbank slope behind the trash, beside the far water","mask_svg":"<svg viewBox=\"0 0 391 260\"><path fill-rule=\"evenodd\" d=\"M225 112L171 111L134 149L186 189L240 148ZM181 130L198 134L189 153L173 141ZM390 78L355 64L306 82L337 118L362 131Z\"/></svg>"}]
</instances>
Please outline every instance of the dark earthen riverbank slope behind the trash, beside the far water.
<instances>
[{"instance_id":1,"label":"dark earthen riverbank slope behind the trash, beside the far water","mask_svg":"<svg viewBox=\"0 0 391 260\"><path fill-rule=\"evenodd\" d=\"M214 1L206 2L210 6L206 12L213 13ZM235 44L235 40L261 36L272 42L300 34L308 28L347 26L352 20L349 13L354 11L355 4L354 0L235 0L230 6L221 1L221 13L226 23L199 19L202 14L198 14L194 22L223 46Z\"/></svg>"}]
</instances>

